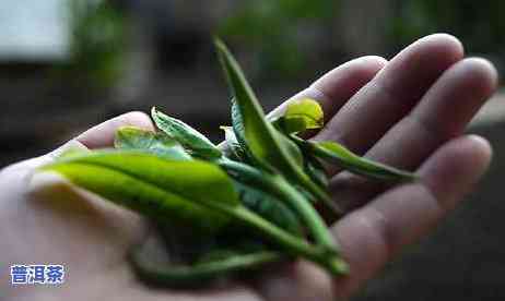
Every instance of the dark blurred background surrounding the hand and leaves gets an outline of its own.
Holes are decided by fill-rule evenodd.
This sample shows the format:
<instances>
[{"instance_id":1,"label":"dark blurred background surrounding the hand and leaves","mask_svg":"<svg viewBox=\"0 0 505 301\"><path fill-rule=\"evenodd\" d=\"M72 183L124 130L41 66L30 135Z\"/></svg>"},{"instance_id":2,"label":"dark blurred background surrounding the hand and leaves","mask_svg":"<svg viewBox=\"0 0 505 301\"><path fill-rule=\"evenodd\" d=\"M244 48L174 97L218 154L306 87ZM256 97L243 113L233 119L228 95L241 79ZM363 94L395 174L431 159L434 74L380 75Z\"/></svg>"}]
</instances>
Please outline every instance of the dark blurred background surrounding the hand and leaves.
<instances>
[{"instance_id":1,"label":"dark blurred background surrounding the hand and leaves","mask_svg":"<svg viewBox=\"0 0 505 301\"><path fill-rule=\"evenodd\" d=\"M154 105L219 141L228 95L212 35L269 110L349 59L390 58L436 32L504 71L504 12L502 0L0 0L0 168ZM355 300L503 300L501 98L469 129L495 148L485 181Z\"/></svg>"}]
</instances>

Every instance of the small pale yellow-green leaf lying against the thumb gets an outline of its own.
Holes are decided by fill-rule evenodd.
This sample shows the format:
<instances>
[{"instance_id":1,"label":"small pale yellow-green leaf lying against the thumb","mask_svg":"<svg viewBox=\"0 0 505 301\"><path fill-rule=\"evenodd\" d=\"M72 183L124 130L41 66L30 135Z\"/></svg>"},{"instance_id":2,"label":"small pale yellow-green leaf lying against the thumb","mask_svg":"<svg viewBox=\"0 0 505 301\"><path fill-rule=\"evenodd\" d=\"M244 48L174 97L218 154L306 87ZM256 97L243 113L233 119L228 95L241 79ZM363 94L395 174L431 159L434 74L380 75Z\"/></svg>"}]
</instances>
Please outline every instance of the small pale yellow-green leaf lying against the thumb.
<instances>
[{"instance_id":1,"label":"small pale yellow-green leaf lying against the thumb","mask_svg":"<svg viewBox=\"0 0 505 301\"><path fill-rule=\"evenodd\" d=\"M116 148L144 150L174 160L191 160L191 156L174 139L136 127L122 127L116 132Z\"/></svg>"}]
</instances>

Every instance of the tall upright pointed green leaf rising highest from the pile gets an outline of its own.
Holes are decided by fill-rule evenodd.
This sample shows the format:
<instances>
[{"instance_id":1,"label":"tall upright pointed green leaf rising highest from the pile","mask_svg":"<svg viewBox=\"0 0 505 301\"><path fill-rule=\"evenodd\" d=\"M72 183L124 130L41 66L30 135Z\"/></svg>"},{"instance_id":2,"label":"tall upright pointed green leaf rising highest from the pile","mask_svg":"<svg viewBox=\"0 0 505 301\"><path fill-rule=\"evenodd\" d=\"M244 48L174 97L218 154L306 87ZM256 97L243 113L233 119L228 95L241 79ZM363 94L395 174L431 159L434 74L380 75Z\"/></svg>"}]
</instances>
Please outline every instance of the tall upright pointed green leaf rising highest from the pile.
<instances>
[{"instance_id":1,"label":"tall upright pointed green leaf rising highest from the pile","mask_svg":"<svg viewBox=\"0 0 505 301\"><path fill-rule=\"evenodd\" d=\"M334 214L340 215L342 210L337 207L328 193L314 183L303 171L300 148L267 121L251 87L226 46L220 40L215 41L215 46L234 96L233 106L235 108L232 106L232 119L240 145L243 144L240 136L244 136L244 144L262 169L272 173L282 173L291 181L300 183L318 200L321 200ZM298 203L297 200L291 202ZM301 216L308 214L308 212L301 212L302 207L307 208L305 204L293 204L293 207L297 209ZM310 216L312 218L305 216L304 221L313 232L315 240L328 250L336 249L333 239L324 221L320 218L314 219L315 215L312 213Z\"/></svg>"}]
</instances>

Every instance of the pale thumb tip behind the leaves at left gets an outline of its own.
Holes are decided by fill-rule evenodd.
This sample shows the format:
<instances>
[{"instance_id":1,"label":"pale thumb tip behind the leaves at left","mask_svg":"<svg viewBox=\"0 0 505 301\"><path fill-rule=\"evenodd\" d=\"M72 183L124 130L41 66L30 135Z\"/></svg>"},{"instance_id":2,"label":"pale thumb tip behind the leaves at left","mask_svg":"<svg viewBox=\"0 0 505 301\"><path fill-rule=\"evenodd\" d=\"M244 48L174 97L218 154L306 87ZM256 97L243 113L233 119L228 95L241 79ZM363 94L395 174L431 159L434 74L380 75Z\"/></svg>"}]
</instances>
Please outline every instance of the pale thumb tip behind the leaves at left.
<instances>
[{"instance_id":1,"label":"pale thumb tip behind the leaves at left","mask_svg":"<svg viewBox=\"0 0 505 301\"><path fill-rule=\"evenodd\" d=\"M85 131L77 140L89 148L110 147L114 144L114 136L117 129L126 125L154 130L154 125L148 115L133 111L107 120Z\"/></svg>"}]
</instances>

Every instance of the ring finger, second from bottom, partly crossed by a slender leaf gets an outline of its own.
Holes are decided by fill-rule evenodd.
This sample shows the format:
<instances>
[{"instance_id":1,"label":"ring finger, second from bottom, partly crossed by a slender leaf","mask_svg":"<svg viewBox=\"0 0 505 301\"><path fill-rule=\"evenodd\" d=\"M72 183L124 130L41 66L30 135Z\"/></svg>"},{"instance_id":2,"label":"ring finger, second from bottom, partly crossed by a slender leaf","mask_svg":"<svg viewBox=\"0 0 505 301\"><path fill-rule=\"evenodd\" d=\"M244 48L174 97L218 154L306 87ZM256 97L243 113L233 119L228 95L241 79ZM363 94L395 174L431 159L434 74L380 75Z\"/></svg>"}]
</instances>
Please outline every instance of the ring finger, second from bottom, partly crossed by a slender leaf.
<instances>
[{"instance_id":1,"label":"ring finger, second from bottom, partly crossed by a slender leaf","mask_svg":"<svg viewBox=\"0 0 505 301\"><path fill-rule=\"evenodd\" d=\"M411 113L398 122L366 157L403 169L415 169L447 140L460 135L497 85L494 67L483 59L465 59L449 68ZM341 206L352 209L380 191L384 184L349 172L337 174L331 190Z\"/></svg>"}]
</instances>

